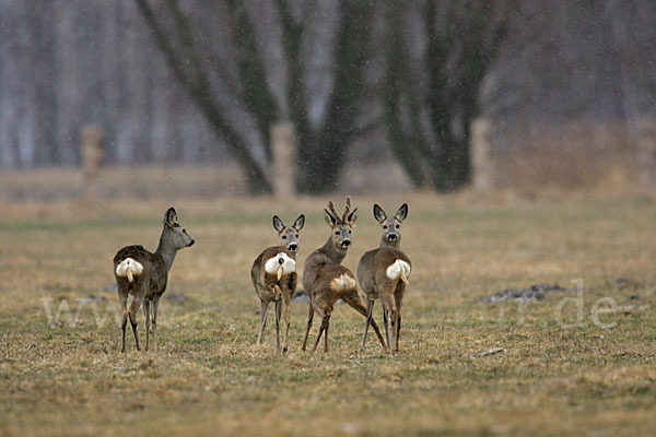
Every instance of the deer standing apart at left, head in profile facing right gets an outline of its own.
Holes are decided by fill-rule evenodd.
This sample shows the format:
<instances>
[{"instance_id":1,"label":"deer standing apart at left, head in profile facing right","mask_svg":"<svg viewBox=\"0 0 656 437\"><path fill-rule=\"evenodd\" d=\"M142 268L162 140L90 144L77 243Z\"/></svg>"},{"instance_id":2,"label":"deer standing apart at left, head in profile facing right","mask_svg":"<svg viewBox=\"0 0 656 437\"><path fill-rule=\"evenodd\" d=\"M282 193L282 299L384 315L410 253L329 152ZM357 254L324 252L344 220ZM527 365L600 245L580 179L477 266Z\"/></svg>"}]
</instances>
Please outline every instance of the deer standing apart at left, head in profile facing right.
<instances>
[{"instance_id":1,"label":"deer standing apart at left, head in profile facing right","mask_svg":"<svg viewBox=\"0 0 656 437\"><path fill-rule=\"evenodd\" d=\"M187 229L177 221L175 209L169 208L164 214L164 226L160 236L160 245L154 253L145 250L142 246L126 246L114 257L114 276L118 285L118 299L122 307L122 346L120 352L126 351L126 324L128 317L134 333L137 351L139 336L137 335L137 310L143 303L143 315L145 316L145 351L148 351L151 327L151 304L153 326L153 350L157 352L157 307L160 297L166 291L168 271L179 249L194 245L194 238L187 234ZM130 310L127 309L128 295L132 295Z\"/></svg>"}]
</instances>

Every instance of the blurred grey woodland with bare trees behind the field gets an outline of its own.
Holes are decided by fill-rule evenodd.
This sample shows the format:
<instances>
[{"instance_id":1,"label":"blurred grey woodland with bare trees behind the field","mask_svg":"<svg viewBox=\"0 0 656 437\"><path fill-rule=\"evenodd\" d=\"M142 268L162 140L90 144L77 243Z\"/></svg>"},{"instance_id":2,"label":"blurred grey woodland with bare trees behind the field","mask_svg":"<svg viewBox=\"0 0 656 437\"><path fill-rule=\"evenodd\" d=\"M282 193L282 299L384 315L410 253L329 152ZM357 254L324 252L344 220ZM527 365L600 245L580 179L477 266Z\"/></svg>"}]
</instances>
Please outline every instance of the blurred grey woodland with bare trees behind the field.
<instances>
[{"instance_id":1,"label":"blurred grey woodland with bare trees behind the field","mask_svg":"<svg viewBox=\"0 0 656 437\"><path fill-rule=\"evenodd\" d=\"M501 153L652 118L654 23L651 0L1 0L0 166L77 165L95 123L109 164L232 161L267 191L288 121L302 191L384 158L447 191L479 116Z\"/></svg>"}]
</instances>

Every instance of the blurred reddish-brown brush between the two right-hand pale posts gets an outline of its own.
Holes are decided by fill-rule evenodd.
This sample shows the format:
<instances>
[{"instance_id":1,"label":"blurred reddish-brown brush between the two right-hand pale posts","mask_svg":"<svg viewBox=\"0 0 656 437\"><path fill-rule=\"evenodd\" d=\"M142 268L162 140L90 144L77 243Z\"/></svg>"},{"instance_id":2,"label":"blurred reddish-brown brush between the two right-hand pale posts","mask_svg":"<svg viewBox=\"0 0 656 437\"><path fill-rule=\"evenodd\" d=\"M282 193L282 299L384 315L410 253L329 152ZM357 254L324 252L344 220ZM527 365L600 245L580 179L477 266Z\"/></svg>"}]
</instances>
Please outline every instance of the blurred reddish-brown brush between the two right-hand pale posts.
<instances>
[{"instance_id":1,"label":"blurred reddish-brown brush between the two right-hand pale posts","mask_svg":"<svg viewBox=\"0 0 656 437\"><path fill-rule=\"evenodd\" d=\"M626 190L639 185L635 144L621 123L512 127L496 139L496 187Z\"/></svg>"}]
</instances>

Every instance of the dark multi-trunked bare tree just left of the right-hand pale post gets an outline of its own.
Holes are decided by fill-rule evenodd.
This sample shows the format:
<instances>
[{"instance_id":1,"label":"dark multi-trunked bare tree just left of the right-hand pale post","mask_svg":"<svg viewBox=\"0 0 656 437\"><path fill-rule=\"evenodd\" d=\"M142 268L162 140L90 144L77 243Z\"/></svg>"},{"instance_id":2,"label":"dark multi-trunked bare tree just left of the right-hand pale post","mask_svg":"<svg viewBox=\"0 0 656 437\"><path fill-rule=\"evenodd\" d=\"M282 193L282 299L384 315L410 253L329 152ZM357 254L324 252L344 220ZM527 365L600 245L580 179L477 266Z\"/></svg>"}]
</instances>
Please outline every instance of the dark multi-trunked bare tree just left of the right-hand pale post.
<instances>
[{"instance_id":1,"label":"dark multi-trunked bare tree just left of the right-hand pale post","mask_svg":"<svg viewBox=\"0 0 656 437\"><path fill-rule=\"evenodd\" d=\"M469 181L470 126L514 8L513 0L387 3L385 126L414 186L449 191Z\"/></svg>"}]
</instances>

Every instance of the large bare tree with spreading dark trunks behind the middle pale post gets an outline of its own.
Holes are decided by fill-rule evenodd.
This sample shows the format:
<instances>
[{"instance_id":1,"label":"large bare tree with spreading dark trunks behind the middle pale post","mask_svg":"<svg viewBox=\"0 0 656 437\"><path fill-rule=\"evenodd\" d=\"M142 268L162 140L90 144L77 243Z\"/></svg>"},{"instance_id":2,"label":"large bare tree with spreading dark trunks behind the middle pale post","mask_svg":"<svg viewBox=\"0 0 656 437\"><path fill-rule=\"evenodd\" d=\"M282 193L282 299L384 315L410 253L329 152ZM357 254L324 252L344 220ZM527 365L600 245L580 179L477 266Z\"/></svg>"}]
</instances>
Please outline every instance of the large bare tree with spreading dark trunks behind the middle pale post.
<instances>
[{"instance_id":1,"label":"large bare tree with spreading dark trunks behind the middle pale post","mask_svg":"<svg viewBox=\"0 0 656 437\"><path fill-rule=\"evenodd\" d=\"M253 192L271 191L268 132L281 121L296 131L298 189L319 192L333 185L359 132L371 2L229 0L200 2L199 14L195 3L184 9L177 0L157 7L136 1L175 76L243 167ZM212 13L213 20L203 20ZM312 46L317 28L325 31L318 48ZM308 83L321 75L328 92L317 101Z\"/></svg>"}]
</instances>

